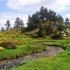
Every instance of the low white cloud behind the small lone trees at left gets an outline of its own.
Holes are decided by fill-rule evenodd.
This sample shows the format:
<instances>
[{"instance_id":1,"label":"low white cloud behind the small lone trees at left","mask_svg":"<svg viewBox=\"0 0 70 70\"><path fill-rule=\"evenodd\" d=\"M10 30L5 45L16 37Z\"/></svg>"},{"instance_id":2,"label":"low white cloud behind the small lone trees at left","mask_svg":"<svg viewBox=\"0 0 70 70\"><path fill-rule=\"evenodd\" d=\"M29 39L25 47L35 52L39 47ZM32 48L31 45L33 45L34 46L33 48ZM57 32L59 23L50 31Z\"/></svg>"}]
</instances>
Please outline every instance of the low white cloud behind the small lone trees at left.
<instances>
[{"instance_id":1,"label":"low white cloud behind the small lone trees at left","mask_svg":"<svg viewBox=\"0 0 70 70\"><path fill-rule=\"evenodd\" d=\"M5 28L5 23L8 19L10 20L11 26L13 27L16 17L19 17L20 19L22 19L26 26L27 17L28 17L27 14L15 14L11 12L4 12L4 13L0 13L0 28L1 27Z\"/></svg>"}]
</instances>

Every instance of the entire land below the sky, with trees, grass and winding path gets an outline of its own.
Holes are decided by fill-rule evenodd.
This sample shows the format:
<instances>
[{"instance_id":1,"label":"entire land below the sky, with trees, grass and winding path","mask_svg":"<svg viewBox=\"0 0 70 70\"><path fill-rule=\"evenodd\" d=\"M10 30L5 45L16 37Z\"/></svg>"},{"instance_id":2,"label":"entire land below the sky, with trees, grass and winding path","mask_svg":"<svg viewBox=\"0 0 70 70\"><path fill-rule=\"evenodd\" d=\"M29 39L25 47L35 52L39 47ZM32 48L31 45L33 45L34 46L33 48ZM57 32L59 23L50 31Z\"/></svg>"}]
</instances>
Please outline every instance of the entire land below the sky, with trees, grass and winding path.
<instances>
[{"instance_id":1,"label":"entire land below the sky, with trees, grass and winding path","mask_svg":"<svg viewBox=\"0 0 70 70\"><path fill-rule=\"evenodd\" d=\"M41 7L0 31L0 70L70 70L70 21Z\"/></svg>"}]
</instances>

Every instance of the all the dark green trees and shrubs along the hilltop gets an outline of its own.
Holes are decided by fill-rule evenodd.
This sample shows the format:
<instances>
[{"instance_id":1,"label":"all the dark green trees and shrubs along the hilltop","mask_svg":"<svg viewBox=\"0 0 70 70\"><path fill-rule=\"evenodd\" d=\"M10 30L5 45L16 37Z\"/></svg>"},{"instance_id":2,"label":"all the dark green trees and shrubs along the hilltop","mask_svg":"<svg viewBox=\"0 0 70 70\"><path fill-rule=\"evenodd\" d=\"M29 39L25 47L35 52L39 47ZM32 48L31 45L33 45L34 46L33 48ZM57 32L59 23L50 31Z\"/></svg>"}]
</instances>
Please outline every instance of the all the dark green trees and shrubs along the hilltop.
<instances>
[{"instance_id":1,"label":"all the dark green trees and shrubs along the hilltop","mask_svg":"<svg viewBox=\"0 0 70 70\"><path fill-rule=\"evenodd\" d=\"M39 29L38 33L36 34L34 33L34 36L33 34L31 34L32 35L31 37L49 36L50 38L53 38L52 36L55 36L54 34L58 35L59 33L58 36L61 37L63 36L64 38L66 38L67 35L69 34L68 30L70 29L69 23L70 22L68 18L66 18L64 22L64 19L61 15L57 14L55 11L48 10L47 8L42 6L39 11L28 16L27 27L24 27L23 20L17 17L14 23L14 28L16 28L17 30L19 29L17 32L21 33L26 33L33 31L35 29ZM8 30L10 28L10 21L7 20L5 25L6 29ZM14 28L10 28L9 30ZM2 28L2 31L3 30L4 29ZM63 34L62 32L64 32L66 37L62 35Z\"/></svg>"}]
</instances>

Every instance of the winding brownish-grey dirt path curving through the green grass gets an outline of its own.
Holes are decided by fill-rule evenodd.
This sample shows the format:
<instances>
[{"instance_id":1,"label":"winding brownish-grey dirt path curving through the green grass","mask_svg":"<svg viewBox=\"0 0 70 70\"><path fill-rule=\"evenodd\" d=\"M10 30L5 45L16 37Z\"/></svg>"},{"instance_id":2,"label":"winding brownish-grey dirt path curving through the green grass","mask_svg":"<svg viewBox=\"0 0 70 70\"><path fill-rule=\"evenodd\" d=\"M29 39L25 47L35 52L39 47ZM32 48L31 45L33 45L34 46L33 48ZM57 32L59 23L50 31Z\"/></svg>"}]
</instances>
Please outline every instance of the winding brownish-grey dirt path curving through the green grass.
<instances>
[{"instance_id":1,"label":"winding brownish-grey dirt path curving through the green grass","mask_svg":"<svg viewBox=\"0 0 70 70\"><path fill-rule=\"evenodd\" d=\"M8 70L8 69L11 70L12 67L17 67L21 63L32 61L38 58L55 56L58 53L63 51L63 49L60 47L47 46L46 48L47 48L46 51L41 51L39 53L26 55L24 57L21 57L15 60L8 60L6 62L0 62L0 70Z\"/></svg>"}]
</instances>

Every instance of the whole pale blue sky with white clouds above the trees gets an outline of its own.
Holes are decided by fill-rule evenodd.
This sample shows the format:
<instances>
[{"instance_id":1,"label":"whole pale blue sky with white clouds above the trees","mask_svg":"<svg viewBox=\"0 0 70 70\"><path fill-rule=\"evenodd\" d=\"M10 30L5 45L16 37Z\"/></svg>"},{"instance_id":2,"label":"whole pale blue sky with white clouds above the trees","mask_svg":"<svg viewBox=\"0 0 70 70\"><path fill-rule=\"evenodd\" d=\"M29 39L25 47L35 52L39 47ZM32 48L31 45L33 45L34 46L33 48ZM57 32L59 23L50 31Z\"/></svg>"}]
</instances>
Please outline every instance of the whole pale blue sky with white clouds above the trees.
<instances>
[{"instance_id":1,"label":"whole pale blue sky with white clouds above the trees","mask_svg":"<svg viewBox=\"0 0 70 70\"><path fill-rule=\"evenodd\" d=\"M57 12L63 18L70 18L70 0L0 0L0 29L5 28L8 19L13 27L16 17L22 19L26 26L28 15L39 11L41 6Z\"/></svg>"}]
</instances>

